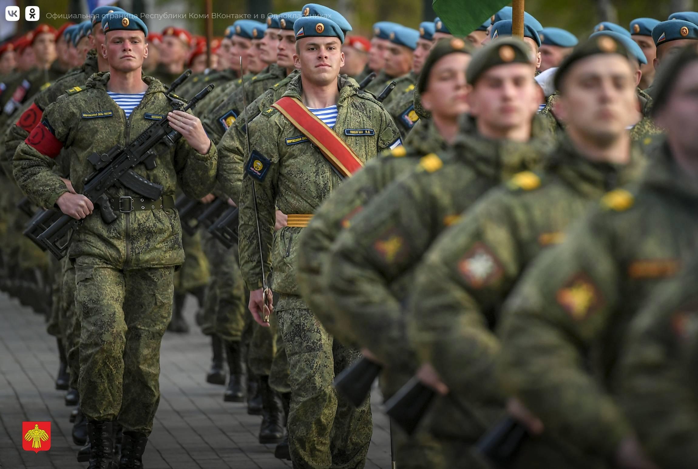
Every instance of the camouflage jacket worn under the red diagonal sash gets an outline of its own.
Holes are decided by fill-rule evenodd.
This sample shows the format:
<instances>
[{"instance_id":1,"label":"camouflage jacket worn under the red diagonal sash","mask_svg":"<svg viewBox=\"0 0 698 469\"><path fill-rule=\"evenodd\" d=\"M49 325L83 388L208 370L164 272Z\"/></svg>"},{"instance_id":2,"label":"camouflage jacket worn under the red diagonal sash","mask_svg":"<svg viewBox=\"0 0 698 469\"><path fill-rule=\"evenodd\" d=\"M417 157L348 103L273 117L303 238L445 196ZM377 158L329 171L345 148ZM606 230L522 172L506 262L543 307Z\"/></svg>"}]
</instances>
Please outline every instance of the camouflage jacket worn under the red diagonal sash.
<instances>
[{"instance_id":1,"label":"camouflage jacket worn under the red diagonal sash","mask_svg":"<svg viewBox=\"0 0 698 469\"><path fill-rule=\"evenodd\" d=\"M399 140L400 134L390 115L373 96L359 91L353 80L338 78L338 116L332 129L366 162ZM284 96L301 98L301 76L288 84ZM362 135L347 130L370 129ZM286 214L311 214L341 183L318 148L275 108L262 112L250 124L251 148L268 159L266 175L242 180L240 196L240 268L248 289L262 286L262 265L258 243L258 223L262 237L265 272L274 268L274 291L298 295L295 258L302 228L285 226L274 234L276 208ZM252 158L248 162L251 163ZM252 185L256 187L258 219L255 220ZM273 239L272 239L273 238Z\"/></svg>"}]
</instances>

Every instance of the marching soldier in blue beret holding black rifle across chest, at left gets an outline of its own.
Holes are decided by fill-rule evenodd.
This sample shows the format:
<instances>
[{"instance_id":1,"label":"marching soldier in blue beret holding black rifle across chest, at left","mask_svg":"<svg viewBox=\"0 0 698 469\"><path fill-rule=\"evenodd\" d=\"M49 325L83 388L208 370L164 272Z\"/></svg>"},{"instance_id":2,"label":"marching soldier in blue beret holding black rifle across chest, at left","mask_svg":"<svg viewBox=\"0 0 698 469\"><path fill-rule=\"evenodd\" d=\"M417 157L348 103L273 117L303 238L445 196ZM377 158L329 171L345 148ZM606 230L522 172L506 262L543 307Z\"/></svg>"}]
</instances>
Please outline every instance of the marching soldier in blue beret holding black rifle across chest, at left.
<instances>
[{"instance_id":1,"label":"marching soldier in blue beret holding black rifle across chest, at left","mask_svg":"<svg viewBox=\"0 0 698 469\"><path fill-rule=\"evenodd\" d=\"M14 163L15 179L32 200L84 219L68 256L75 263L75 307L82 318L80 408L88 419L90 469L112 468L114 421L124 428L121 467L142 465L159 401L160 344L172 314L174 267L184 261L174 187L179 183L190 197L203 197L214 183L217 160L198 118L170 112L172 100L163 84L142 76L143 22L114 12L103 17L102 26L101 52L110 72L93 75L84 89L47 107L17 148ZM92 116L84 109L98 112ZM94 171L87 155L128 143L152 124L152 116L167 118L184 137L157 157L155 169L133 168L163 185L163 197L136 205L138 194L112 187L117 221L107 225L89 216L93 203L69 192L50 171L51 159L61 148L70 151L70 178L80 192L84 177Z\"/></svg>"}]
</instances>

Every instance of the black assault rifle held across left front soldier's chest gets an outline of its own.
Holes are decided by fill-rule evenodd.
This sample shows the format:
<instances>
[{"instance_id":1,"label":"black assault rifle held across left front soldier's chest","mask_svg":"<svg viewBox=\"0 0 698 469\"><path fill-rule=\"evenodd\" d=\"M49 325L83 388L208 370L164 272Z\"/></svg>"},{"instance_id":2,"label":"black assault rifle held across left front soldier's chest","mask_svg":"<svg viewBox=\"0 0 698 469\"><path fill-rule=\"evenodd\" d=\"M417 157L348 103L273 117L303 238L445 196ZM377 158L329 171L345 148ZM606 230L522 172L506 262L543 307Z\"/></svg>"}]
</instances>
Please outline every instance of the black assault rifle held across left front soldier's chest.
<instances>
[{"instance_id":1,"label":"black assault rifle held across left front soldier's chest","mask_svg":"<svg viewBox=\"0 0 698 469\"><path fill-rule=\"evenodd\" d=\"M209 84L179 110L186 112L188 109L193 109L212 89L214 89L214 85ZM114 212L107 194L105 194L116 183L120 183L147 199L156 200L162 196L163 187L142 178L133 171L133 167L144 163L147 169L155 169L156 157L161 151L172 148L179 139L181 139L181 134L172 129L170 122L163 118L150 125L127 146L114 145L106 153L95 152L87 157L95 171L85 178L82 194L90 199L95 206L98 206L105 223L110 224L117 220L117 214ZM158 146L160 148L156 148ZM119 212L130 213L131 210L133 210L133 198L120 197ZM54 214L52 219L46 222L46 224L50 224L49 228L41 233L37 239L57 259L62 259L70 244L69 241L64 242L66 234L70 229L77 229L82 222L60 212L54 212Z\"/></svg>"}]
</instances>

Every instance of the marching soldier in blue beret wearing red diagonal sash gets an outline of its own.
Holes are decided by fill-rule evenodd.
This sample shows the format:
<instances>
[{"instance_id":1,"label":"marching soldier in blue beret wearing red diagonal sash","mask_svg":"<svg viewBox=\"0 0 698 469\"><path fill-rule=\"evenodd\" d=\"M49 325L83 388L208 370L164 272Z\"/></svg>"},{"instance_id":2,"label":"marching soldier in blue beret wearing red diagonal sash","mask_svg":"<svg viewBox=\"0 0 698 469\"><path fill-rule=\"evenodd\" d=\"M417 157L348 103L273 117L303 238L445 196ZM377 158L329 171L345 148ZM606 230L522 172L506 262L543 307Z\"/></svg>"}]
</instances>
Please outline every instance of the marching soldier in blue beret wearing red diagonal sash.
<instances>
[{"instance_id":1,"label":"marching soldier in blue beret wearing red diagonal sash","mask_svg":"<svg viewBox=\"0 0 698 469\"><path fill-rule=\"evenodd\" d=\"M332 389L335 372L357 354L333 341L315 321L299 296L292 266L302 227L332 188L401 141L385 109L338 77L344 40L339 25L308 16L296 20L294 31L294 60L301 73L247 129L252 153L242 181L240 262L251 291L250 310L262 325L271 301L262 271L273 266L279 294L275 314L290 365L293 466L362 466L372 431L369 401L355 409ZM290 215L288 226L272 241L277 206Z\"/></svg>"}]
</instances>

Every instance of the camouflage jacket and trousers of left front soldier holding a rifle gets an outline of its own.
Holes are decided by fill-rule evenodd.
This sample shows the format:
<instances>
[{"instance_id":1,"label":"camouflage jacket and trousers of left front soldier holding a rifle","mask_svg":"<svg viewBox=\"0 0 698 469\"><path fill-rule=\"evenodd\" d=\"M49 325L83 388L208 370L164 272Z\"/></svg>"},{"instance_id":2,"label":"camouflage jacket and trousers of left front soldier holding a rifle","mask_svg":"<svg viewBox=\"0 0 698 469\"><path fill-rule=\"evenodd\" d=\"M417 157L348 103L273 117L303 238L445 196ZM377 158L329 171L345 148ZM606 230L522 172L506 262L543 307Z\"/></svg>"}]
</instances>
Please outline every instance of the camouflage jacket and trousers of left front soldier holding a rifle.
<instances>
[{"instance_id":1,"label":"camouflage jacket and trousers of left front soldier holding a rifle","mask_svg":"<svg viewBox=\"0 0 698 469\"><path fill-rule=\"evenodd\" d=\"M84 91L61 96L46 108L43 123L27 139L33 141L32 135L43 132L43 140L34 145L45 148L42 142L54 138L65 146L77 192L82 191L84 177L93 171L87 155L123 145L140 134L152 123L144 117L145 110L165 116L172 109L163 84L146 76L143 79L149 87L126 119L106 93L109 77L109 72L96 73ZM103 111L105 117L84 118L84 109ZM170 151L158 155L155 169L139 165L133 170L163 185L161 203L174 206L175 185L193 198L211 190L216 160L213 144L207 155L200 155L181 139ZM17 148L15 179L32 200L45 207L54 206L67 191L49 171L49 164L50 157L34 146L22 143ZM140 198L121 187L108 192L114 200ZM174 267L184 262L177 211L135 210L122 213L108 225L97 214L89 216L73 233L68 256L75 263L75 307L82 323L82 413L89 420L118 417L124 430L149 433L160 398L160 342L172 314Z\"/></svg>"}]
</instances>

